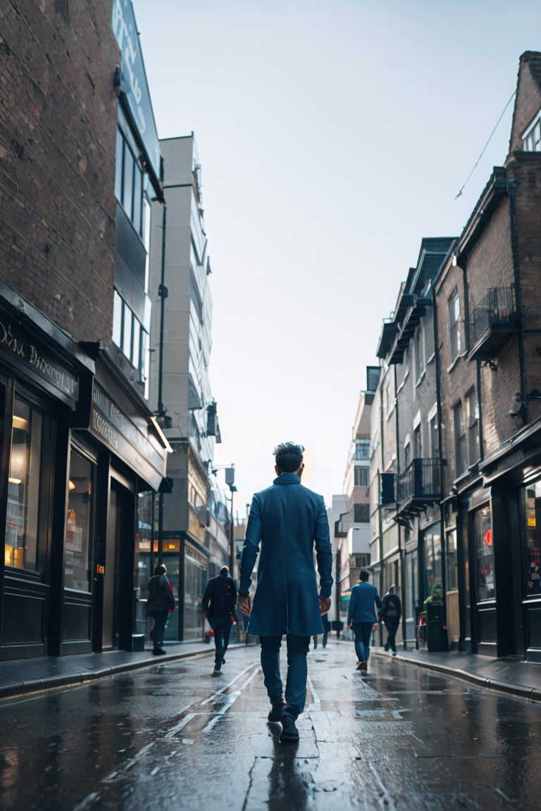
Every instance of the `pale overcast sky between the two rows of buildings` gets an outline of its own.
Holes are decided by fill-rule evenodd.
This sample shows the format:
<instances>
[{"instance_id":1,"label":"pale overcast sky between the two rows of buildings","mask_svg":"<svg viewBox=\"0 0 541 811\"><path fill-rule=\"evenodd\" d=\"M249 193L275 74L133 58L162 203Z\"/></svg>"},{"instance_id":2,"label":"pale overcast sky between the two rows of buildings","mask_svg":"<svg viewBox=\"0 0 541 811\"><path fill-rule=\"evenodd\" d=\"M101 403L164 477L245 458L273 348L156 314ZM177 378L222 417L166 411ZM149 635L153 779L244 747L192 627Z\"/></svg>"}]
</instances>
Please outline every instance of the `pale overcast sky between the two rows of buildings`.
<instances>
[{"instance_id":1,"label":"pale overcast sky between the two rows of buildings","mask_svg":"<svg viewBox=\"0 0 541 811\"><path fill-rule=\"evenodd\" d=\"M421 239L459 235L505 161L513 102L492 131L541 49L539 2L133 5L158 135L197 141L235 513L284 440L329 505Z\"/></svg>"}]
</instances>

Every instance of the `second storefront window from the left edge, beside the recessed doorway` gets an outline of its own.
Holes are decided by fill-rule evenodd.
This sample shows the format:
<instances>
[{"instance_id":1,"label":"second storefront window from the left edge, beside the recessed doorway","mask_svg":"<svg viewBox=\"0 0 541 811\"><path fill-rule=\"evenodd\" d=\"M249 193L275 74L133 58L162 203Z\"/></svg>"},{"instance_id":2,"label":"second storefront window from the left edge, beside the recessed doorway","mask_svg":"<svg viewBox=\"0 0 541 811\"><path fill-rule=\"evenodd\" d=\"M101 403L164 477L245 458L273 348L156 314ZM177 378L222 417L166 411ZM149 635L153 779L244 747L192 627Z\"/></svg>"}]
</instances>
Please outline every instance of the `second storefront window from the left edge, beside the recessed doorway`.
<instances>
[{"instance_id":1,"label":"second storefront window from the left edge, beside the recessed doorway","mask_svg":"<svg viewBox=\"0 0 541 811\"><path fill-rule=\"evenodd\" d=\"M71 449L67 502L64 586L90 591L90 530L92 522L92 463Z\"/></svg>"}]
</instances>

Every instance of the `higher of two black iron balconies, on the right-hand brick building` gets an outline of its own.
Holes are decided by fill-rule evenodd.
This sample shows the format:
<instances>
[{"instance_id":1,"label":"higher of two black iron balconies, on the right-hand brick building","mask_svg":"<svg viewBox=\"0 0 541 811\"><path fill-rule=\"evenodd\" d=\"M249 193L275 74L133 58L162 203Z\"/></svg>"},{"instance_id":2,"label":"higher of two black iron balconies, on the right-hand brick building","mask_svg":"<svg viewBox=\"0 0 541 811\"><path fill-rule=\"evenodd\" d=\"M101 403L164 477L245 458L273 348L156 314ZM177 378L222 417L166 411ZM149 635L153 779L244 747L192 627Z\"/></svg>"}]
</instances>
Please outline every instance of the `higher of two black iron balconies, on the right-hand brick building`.
<instances>
[{"instance_id":1,"label":"higher of two black iron balconies, on the right-hand brick building","mask_svg":"<svg viewBox=\"0 0 541 811\"><path fill-rule=\"evenodd\" d=\"M470 315L468 360L488 361L518 332L519 320L513 288L489 287Z\"/></svg>"}]
</instances>

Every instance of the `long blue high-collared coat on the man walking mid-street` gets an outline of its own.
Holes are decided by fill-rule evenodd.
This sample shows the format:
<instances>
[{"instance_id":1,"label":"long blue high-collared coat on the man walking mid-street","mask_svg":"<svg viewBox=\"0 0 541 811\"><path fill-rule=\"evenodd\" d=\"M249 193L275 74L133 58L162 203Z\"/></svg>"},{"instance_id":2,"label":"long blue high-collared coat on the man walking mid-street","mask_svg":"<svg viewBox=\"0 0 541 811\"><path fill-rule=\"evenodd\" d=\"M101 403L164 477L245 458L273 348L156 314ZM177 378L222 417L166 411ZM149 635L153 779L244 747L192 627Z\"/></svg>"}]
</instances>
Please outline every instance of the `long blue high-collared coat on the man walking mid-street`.
<instances>
[{"instance_id":1,"label":"long blue high-collared coat on the man walking mid-street","mask_svg":"<svg viewBox=\"0 0 541 811\"><path fill-rule=\"evenodd\" d=\"M248 594L261 553L248 633L260 637L323 633L314 547L319 596L328 598L333 552L323 497L303 487L295 474L282 473L251 502L238 594Z\"/></svg>"}]
</instances>

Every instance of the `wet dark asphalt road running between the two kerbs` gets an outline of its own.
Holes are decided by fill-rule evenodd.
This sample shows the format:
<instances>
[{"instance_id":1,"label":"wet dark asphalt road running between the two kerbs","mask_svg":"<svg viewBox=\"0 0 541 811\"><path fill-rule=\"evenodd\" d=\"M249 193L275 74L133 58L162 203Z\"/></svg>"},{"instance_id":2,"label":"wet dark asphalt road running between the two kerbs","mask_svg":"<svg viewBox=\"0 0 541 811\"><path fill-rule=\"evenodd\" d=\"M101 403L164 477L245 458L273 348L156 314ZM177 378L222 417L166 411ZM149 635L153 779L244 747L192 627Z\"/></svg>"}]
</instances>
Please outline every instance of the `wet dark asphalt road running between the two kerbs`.
<instances>
[{"instance_id":1,"label":"wet dark asphalt road running between the two kerbs","mask_svg":"<svg viewBox=\"0 0 541 811\"><path fill-rule=\"evenodd\" d=\"M352 645L311 649L298 745L256 646L0 702L0 808L541 808L541 706Z\"/></svg>"}]
</instances>

